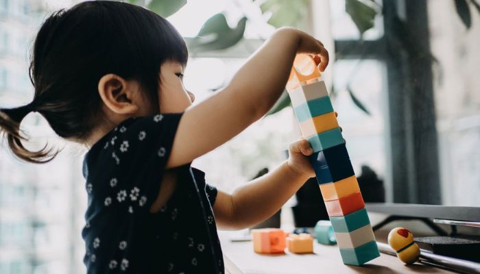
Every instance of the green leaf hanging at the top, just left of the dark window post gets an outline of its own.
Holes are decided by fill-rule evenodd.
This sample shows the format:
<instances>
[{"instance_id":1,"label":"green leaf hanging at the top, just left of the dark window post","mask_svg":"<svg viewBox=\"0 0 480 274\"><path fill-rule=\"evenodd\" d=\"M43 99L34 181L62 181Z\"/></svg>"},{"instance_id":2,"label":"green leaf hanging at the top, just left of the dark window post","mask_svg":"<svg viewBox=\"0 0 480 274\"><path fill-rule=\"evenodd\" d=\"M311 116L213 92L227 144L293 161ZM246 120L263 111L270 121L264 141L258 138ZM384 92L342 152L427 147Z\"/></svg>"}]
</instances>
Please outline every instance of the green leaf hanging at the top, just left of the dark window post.
<instances>
[{"instance_id":1,"label":"green leaf hanging at the top, just left of the dark window post","mask_svg":"<svg viewBox=\"0 0 480 274\"><path fill-rule=\"evenodd\" d=\"M360 35L374 26L376 10L360 0L346 0L345 11L359 29Z\"/></svg>"}]
</instances>

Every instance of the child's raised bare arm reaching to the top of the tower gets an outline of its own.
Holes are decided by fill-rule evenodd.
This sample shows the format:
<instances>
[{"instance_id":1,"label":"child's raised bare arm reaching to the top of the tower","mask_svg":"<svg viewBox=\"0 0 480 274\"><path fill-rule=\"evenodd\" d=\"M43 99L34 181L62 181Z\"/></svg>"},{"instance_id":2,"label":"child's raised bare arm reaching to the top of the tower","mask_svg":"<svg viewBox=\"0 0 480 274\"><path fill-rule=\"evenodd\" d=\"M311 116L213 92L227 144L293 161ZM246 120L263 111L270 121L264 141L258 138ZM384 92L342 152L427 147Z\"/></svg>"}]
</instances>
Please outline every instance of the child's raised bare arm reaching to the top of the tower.
<instances>
[{"instance_id":1,"label":"child's raised bare arm reaching to the top of the tower","mask_svg":"<svg viewBox=\"0 0 480 274\"><path fill-rule=\"evenodd\" d=\"M320 55L322 71L328 64L322 42L298 29L278 29L226 88L185 110L167 168L187 164L219 147L265 115L282 94L296 53Z\"/></svg>"}]
</instances>

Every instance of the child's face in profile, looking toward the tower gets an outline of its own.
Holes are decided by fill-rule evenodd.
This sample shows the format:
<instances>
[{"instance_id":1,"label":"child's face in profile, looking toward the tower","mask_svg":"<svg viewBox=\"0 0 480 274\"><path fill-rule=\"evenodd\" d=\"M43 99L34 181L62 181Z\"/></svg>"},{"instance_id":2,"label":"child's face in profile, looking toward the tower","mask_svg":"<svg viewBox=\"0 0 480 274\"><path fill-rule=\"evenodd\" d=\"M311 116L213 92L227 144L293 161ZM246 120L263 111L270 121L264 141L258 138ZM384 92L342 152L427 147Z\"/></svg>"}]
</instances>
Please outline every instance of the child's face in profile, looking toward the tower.
<instances>
[{"instance_id":1,"label":"child's face in profile, looking toward the tower","mask_svg":"<svg viewBox=\"0 0 480 274\"><path fill-rule=\"evenodd\" d=\"M183 71L182 64L176 61L166 61L160 66L160 112L183 112L195 100L193 93L183 86Z\"/></svg>"}]
</instances>

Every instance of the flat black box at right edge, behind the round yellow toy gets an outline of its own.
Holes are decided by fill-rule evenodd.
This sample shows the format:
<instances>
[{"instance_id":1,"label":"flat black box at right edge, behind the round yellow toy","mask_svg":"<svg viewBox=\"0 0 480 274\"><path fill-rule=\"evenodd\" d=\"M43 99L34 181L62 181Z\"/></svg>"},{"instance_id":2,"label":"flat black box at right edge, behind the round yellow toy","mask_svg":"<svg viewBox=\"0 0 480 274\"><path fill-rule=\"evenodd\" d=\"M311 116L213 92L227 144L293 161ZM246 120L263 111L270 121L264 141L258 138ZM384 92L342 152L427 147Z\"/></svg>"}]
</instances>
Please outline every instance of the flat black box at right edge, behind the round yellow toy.
<instances>
[{"instance_id":1,"label":"flat black box at right edge, behind the round yellow toy","mask_svg":"<svg viewBox=\"0 0 480 274\"><path fill-rule=\"evenodd\" d=\"M480 262L480 236L432 236L418 237L415 242L422 251Z\"/></svg>"}]
</instances>

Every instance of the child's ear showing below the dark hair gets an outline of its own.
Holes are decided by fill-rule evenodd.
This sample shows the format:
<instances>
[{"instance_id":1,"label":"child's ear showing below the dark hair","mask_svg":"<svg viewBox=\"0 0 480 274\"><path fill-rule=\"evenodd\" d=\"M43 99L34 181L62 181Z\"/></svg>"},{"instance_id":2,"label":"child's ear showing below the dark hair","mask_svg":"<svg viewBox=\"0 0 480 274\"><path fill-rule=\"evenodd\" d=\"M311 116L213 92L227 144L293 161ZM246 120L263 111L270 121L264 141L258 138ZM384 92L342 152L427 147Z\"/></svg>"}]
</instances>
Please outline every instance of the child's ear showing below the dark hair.
<instances>
[{"instance_id":1,"label":"child's ear showing below the dark hair","mask_svg":"<svg viewBox=\"0 0 480 274\"><path fill-rule=\"evenodd\" d=\"M125 79L115 74L106 74L98 82L98 92L101 101L104 101L107 108L117 114L135 114L139 105L134 98L132 85Z\"/></svg>"}]
</instances>

